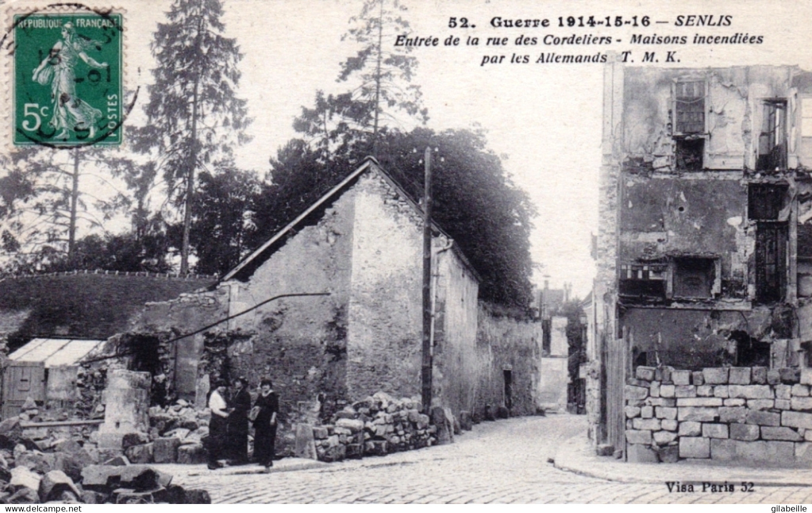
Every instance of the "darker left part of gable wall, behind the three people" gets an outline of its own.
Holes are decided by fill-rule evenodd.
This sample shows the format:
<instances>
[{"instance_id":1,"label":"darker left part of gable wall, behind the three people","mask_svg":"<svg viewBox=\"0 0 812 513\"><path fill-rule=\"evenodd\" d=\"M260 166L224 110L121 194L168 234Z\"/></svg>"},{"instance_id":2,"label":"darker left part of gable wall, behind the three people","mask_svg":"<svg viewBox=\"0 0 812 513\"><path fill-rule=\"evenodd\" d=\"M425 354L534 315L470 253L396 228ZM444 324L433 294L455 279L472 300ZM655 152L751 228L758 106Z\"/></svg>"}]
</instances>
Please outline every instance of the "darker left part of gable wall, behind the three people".
<instances>
[{"instance_id":1,"label":"darker left part of gable wall, behind the three people","mask_svg":"<svg viewBox=\"0 0 812 513\"><path fill-rule=\"evenodd\" d=\"M354 196L352 189L345 192L316 224L290 236L248 282L229 282L232 315L274 295L330 292L274 300L229 326L252 334L231 350L235 373L248 377L252 386L270 377L287 414L300 402L313 403L319 393L333 403L346 395Z\"/></svg>"}]
</instances>

